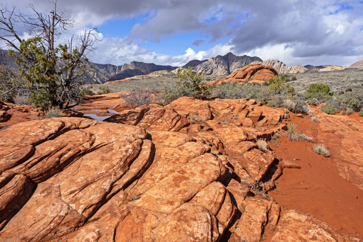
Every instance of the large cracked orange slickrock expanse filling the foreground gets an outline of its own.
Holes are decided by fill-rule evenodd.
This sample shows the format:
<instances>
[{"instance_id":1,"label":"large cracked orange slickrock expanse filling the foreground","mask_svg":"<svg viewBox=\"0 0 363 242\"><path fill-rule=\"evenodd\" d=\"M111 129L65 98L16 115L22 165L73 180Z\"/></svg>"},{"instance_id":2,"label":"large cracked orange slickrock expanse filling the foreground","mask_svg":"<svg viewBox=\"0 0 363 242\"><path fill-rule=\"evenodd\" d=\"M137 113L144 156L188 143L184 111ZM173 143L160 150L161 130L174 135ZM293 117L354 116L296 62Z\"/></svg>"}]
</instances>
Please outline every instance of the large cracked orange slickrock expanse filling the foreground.
<instances>
[{"instance_id":1,"label":"large cracked orange slickrock expanse filling the foreground","mask_svg":"<svg viewBox=\"0 0 363 242\"><path fill-rule=\"evenodd\" d=\"M1 241L359 241L266 192L283 108L182 97L0 130Z\"/></svg>"}]
</instances>

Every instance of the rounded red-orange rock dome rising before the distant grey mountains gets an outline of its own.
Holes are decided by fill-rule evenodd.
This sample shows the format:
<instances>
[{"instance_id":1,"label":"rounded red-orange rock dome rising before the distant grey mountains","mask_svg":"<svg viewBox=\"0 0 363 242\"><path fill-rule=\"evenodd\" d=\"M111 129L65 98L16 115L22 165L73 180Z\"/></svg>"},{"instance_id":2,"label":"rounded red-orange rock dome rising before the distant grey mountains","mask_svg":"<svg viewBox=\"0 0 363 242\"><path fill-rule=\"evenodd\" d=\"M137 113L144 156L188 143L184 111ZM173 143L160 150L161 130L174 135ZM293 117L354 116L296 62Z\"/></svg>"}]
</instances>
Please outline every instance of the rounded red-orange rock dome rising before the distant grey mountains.
<instances>
[{"instance_id":1,"label":"rounded red-orange rock dome rising before the distant grey mountains","mask_svg":"<svg viewBox=\"0 0 363 242\"><path fill-rule=\"evenodd\" d=\"M250 64L240 69L239 71L233 72L229 76L208 82L207 85L220 85L223 82L236 82L239 84L246 83L264 83L268 82L271 78L274 78L278 73L271 66L264 66L262 64Z\"/></svg>"}]
</instances>

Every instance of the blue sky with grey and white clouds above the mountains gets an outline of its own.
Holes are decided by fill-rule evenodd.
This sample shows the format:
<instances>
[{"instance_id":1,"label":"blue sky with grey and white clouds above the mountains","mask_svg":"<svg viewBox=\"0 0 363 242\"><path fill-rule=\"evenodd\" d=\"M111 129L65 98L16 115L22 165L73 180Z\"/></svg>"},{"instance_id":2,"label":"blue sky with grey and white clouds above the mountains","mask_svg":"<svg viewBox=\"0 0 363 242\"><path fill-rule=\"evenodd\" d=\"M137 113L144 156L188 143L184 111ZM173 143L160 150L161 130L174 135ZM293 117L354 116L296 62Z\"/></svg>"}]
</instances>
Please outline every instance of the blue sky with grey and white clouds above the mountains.
<instances>
[{"instance_id":1,"label":"blue sky with grey and white clouds above the mountains","mask_svg":"<svg viewBox=\"0 0 363 242\"><path fill-rule=\"evenodd\" d=\"M46 12L47 0L0 0ZM58 0L102 38L90 61L183 66L232 52L286 65L347 66L363 59L363 1ZM64 38L67 35L63 36Z\"/></svg>"}]
</instances>

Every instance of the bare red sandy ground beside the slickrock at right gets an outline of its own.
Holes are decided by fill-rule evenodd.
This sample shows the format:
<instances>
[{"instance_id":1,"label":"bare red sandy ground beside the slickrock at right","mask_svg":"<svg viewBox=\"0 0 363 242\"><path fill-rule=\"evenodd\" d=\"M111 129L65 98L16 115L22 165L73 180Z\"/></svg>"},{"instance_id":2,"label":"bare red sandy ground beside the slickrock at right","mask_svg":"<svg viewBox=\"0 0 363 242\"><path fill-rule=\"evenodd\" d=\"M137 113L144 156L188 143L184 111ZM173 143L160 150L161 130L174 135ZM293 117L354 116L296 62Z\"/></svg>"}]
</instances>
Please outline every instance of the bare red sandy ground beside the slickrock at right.
<instances>
[{"instance_id":1,"label":"bare red sandy ground beside the slickrock at right","mask_svg":"<svg viewBox=\"0 0 363 242\"><path fill-rule=\"evenodd\" d=\"M356 113L349 117L363 120ZM313 138L322 132L309 116L290 113L283 123L294 123ZM278 159L293 161L301 169L284 169L269 196L280 206L312 214L343 233L363 235L363 191L338 174L334 150L325 158L315 153L312 142L289 141L284 133L270 147Z\"/></svg>"}]
</instances>

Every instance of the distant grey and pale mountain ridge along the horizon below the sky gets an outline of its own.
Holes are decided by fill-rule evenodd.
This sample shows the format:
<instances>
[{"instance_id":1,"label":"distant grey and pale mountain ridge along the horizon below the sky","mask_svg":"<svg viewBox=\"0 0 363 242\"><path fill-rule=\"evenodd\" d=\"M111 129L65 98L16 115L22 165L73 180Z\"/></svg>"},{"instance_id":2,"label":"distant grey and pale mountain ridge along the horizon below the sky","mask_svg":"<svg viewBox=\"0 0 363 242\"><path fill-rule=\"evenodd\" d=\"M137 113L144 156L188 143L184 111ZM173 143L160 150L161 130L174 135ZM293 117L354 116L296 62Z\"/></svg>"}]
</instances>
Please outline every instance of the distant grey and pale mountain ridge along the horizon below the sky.
<instances>
[{"instance_id":1,"label":"distant grey and pale mountain ridge along the horizon below the sky","mask_svg":"<svg viewBox=\"0 0 363 242\"><path fill-rule=\"evenodd\" d=\"M148 75L152 72L162 70L174 71L175 73L188 67L193 67L196 72L204 73L206 75L227 76L252 63L272 66L278 73L281 74L304 73L307 71L336 71L343 68L363 68L363 65L361 64L363 61L356 62L349 67L330 65L295 65L289 67L278 59L266 59L263 61L260 57L257 56L237 56L231 52L228 52L225 55L217 55L210 59L204 59L203 61L193 59L181 67L156 65L154 63L143 63L136 61L121 66L89 62L86 65L87 72L85 73L85 83L103 84L107 81L116 81L137 75ZM4 49L0 49L0 64L9 67L17 67L15 64L15 58L10 57L8 52Z\"/></svg>"}]
</instances>

